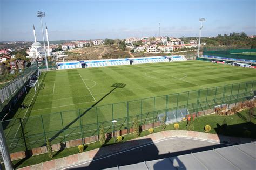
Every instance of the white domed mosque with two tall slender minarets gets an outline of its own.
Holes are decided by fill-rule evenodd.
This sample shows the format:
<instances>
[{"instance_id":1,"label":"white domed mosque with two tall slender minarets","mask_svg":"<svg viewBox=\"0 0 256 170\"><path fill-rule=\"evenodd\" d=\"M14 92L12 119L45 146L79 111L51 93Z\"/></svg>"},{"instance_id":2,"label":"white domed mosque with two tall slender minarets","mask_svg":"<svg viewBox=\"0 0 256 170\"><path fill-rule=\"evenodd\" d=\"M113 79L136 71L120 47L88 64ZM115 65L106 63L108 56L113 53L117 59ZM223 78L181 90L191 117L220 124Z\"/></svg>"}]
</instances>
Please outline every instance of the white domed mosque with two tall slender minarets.
<instances>
[{"instance_id":1,"label":"white domed mosque with two tall slender minarets","mask_svg":"<svg viewBox=\"0 0 256 170\"><path fill-rule=\"evenodd\" d=\"M44 58L45 52L47 52L47 56L50 56L47 25L46 25L46 39L47 39L48 49L44 49L41 43L36 41L36 32L35 32L34 25L33 25L33 33L34 33L35 42L31 45L31 48L29 48L29 51L26 52L29 55L27 57L28 58Z\"/></svg>"}]
</instances>

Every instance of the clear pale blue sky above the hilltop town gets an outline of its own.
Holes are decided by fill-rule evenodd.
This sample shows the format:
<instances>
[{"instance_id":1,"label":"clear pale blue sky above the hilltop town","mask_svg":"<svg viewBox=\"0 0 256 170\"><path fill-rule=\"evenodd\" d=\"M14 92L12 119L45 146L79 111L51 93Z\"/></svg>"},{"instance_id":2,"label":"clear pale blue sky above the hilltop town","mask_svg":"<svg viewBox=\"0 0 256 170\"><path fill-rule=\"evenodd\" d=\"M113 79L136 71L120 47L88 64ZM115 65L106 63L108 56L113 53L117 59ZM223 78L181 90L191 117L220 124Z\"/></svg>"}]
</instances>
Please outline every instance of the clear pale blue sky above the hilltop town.
<instances>
[{"instance_id":1,"label":"clear pale blue sky above the hilltop town","mask_svg":"<svg viewBox=\"0 0 256 170\"><path fill-rule=\"evenodd\" d=\"M45 12L49 40L123 39L245 32L256 34L255 0L0 0L0 41L42 40L37 11ZM45 31L45 30L44 30Z\"/></svg>"}]
</instances>

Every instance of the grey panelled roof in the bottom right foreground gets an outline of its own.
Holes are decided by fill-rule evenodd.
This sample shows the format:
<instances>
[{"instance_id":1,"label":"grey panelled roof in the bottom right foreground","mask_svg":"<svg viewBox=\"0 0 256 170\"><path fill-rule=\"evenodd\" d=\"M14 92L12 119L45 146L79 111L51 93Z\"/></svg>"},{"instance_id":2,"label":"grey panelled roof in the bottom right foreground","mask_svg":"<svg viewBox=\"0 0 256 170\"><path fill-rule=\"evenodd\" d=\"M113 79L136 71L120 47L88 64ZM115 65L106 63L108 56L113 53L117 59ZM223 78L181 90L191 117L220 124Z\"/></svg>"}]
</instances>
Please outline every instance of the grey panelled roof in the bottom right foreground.
<instances>
[{"instance_id":1,"label":"grey panelled roof in the bottom right foreground","mask_svg":"<svg viewBox=\"0 0 256 170\"><path fill-rule=\"evenodd\" d=\"M210 151L180 155L138 164L108 168L125 169L255 169L256 142L233 145Z\"/></svg>"}]
</instances>

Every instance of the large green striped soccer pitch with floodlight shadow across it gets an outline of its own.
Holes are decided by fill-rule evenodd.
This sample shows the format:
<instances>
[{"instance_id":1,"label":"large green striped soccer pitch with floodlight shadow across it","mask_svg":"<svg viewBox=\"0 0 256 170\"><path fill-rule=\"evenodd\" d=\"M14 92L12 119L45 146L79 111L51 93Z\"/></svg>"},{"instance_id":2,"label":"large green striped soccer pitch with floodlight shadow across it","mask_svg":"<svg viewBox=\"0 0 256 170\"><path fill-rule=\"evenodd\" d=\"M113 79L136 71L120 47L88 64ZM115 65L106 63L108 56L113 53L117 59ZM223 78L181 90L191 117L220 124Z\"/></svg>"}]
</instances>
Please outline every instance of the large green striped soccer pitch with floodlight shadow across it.
<instances>
[{"instance_id":1,"label":"large green striped soccer pitch with floodlight shadow across it","mask_svg":"<svg viewBox=\"0 0 256 170\"><path fill-rule=\"evenodd\" d=\"M83 137L95 135L95 129L100 126L95 125L97 122L104 123L104 127L108 128L112 127L112 119L120 119L122 121L118 121L119 128L124 128L126 122L126 127L129 127L132 118L127 120L126 117L173 108L178 102L179 106L204 102L206 108L206 101L210 98L213 100L214 94L215 98L223 98L225 101L226 94L223 90L226 93L231 91L228 92L231 95L234 94L232 91L239 94L240 85L221 87L218 90L222 92L213 87L253 80L256 80L256 69L197 60L43 72L37 93L30 89L24 99L25 105L29 107L19 108L12 117L21 119L3 122L3 125L9 148L14 152L24 149L24 140L29 148L43 145L45 133L54 140L52 143L60 143L82 138L80 131L85 132ZM250 88L251 86L255 88L256 84L250 84ZM184 93L178 98L165 96L199 89L204 89L199 91L201 94L196 91L194 94ZM196 96L203 97L198 99ZM141 100L143 98L149 99ZM228 95L227 98L231 99ZM122 103L126 101L131 102ZM119 104L107 105L111 103ZM214 104L216 102L212 105ZM102 107L96 108L97 106ZM92 108L86 109L90 107ZM50 114L53 112L58 113ZM140 121L149 117L148 114L141 116ZM151 117L155 118L156 115ZM80 128L80 125L83 127ZM27 136L25 139L23 134ZM65 139L63 136L66 136Z\"/></svg>"}]
</instances>

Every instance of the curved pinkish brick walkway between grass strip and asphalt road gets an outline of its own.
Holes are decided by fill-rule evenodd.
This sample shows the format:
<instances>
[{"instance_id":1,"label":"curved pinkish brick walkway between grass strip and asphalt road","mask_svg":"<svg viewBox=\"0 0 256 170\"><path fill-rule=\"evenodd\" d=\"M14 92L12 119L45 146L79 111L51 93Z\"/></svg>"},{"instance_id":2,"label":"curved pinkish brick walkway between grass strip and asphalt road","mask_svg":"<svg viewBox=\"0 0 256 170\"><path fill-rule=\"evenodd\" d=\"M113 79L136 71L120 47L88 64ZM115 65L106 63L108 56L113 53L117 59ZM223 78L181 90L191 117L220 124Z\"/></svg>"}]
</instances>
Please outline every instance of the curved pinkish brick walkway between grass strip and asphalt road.
<instances>
[{"instance_id":1,"label":"curved pinkish brick walkway between grass strip and asphalt road","mask_svg":"<svg viewBox=\"0 0 256 170\"><path fill-rule=\"evenodd\" d=\"M228 144L242 144L242 143L249 143L252 141L251 139L246 139L246 138L227 137L227 136L202 133L202 132L193 132L193 131L185 131L185 130L169 130L169 131L153 133L148 136L126 141L124 143L117 143L115 145L110 145L103 148L97 148L95 150L78 153L75 155L70 155L68 157L43 162L41 164L31 165L21 169L61 169L61 168L69 167L72 165L82 164L84 162L88 162L93 159L95 160L98 158L106 157L111 154L120 153L134 147L150 144L152 142L156 143L157 141L160 141L166 138L175 138L175 137L200 139L200 140L206 140L206 141L213 141L215 143L228 143Z\"/></svg>"}]
</instances>

